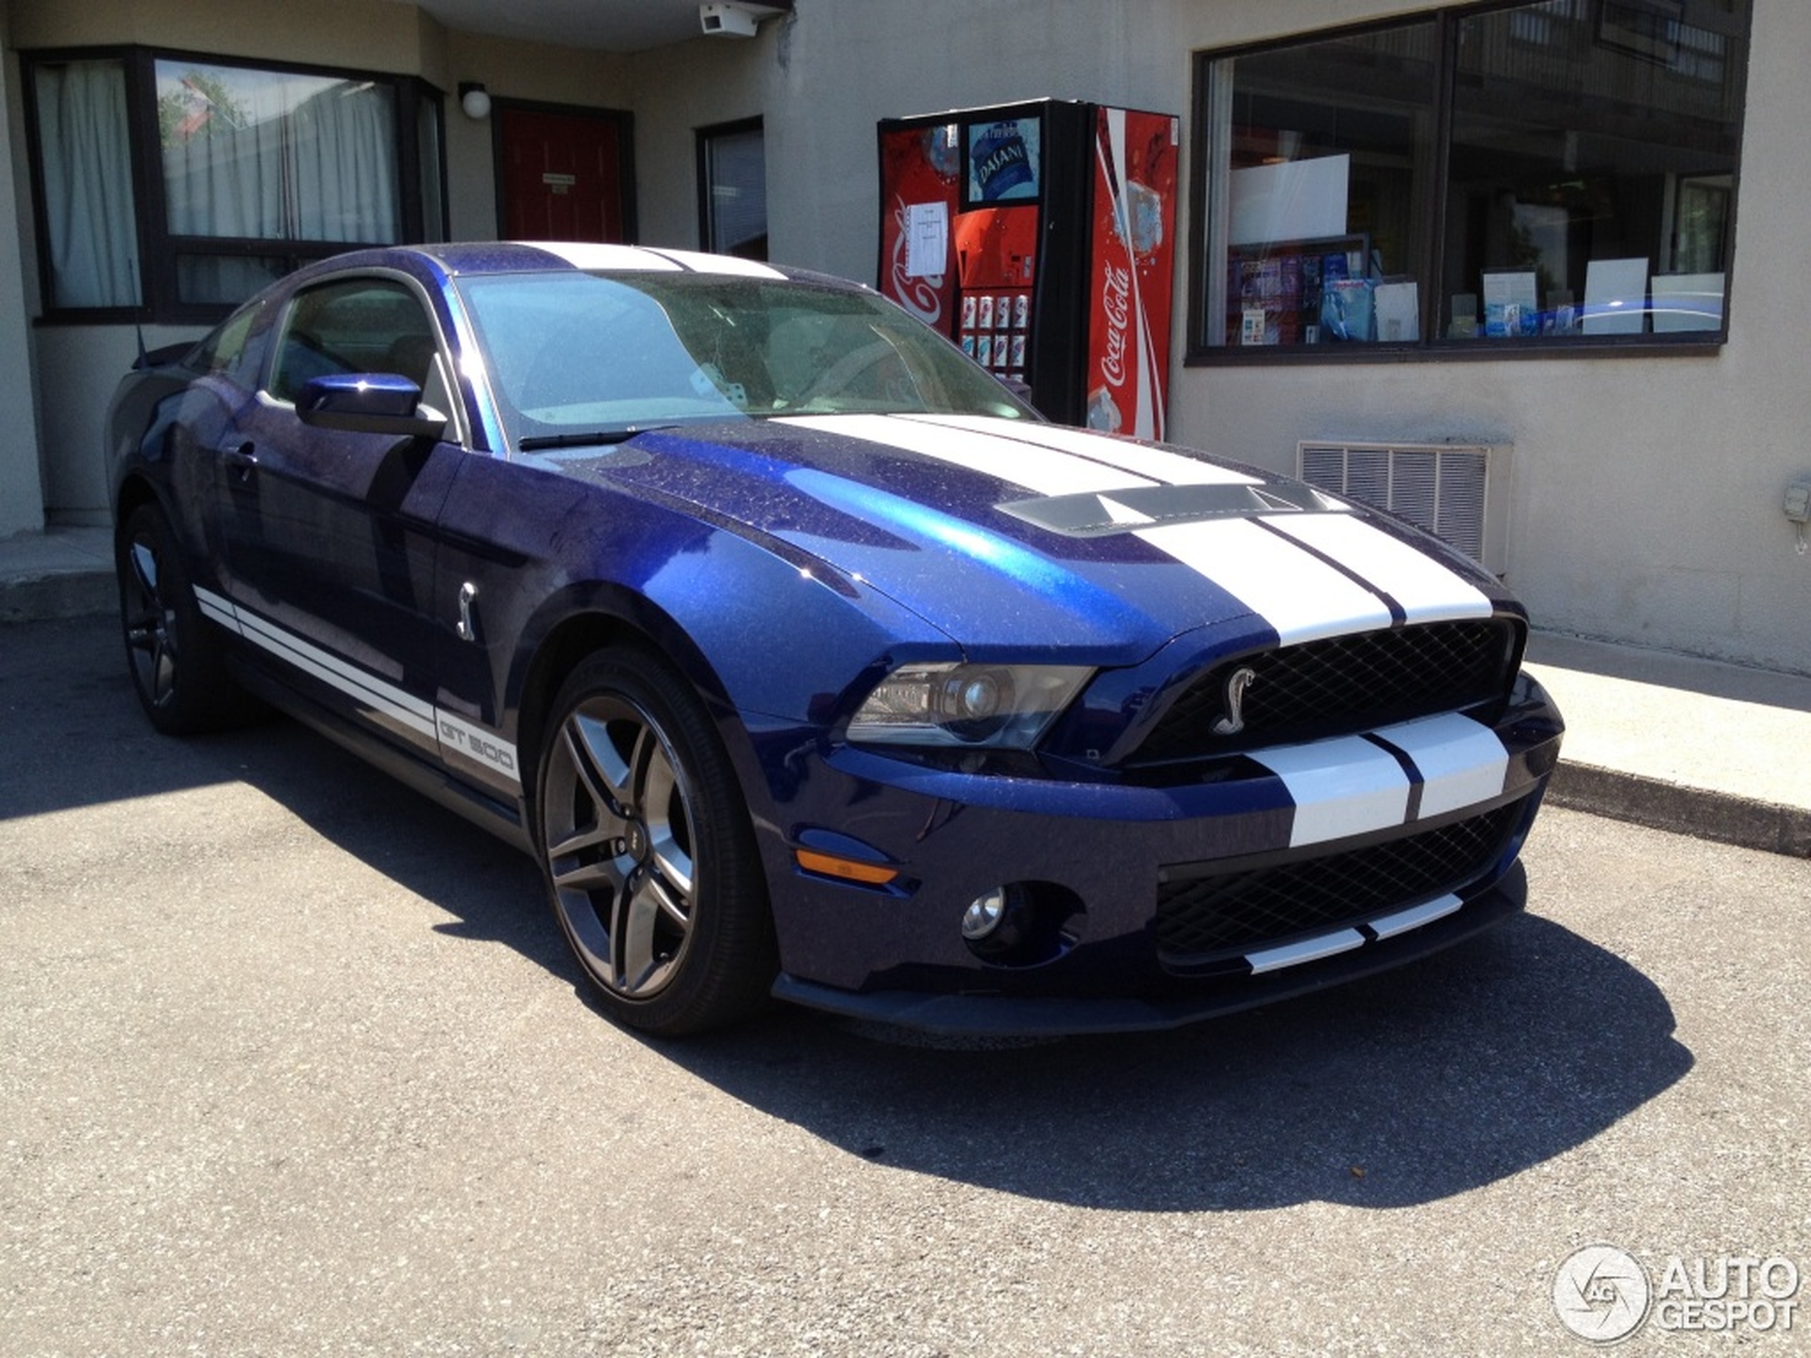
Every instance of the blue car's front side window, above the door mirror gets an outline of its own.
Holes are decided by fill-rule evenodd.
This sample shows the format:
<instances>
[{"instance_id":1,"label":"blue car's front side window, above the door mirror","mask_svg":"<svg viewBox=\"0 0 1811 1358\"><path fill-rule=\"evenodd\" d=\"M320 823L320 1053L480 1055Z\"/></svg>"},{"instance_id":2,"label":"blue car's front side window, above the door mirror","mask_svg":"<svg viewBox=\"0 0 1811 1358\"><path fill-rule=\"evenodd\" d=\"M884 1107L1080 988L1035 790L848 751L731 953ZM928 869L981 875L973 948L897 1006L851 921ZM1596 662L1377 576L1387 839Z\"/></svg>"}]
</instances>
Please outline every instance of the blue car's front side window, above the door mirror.
<instances>
[{"instance_id":1,"label":"blue car's front side window, above the door mirror","mask_svg":"<svg viewBox=\"0 0 1811 1358\"><path fill-rule=\"evenodd\" d=\"M335 373L400 373L427 406L451 411L435 328L391 279L324 282L290 302L270 395L295 400L310 378Z\"/></svg>"}]
</instances>

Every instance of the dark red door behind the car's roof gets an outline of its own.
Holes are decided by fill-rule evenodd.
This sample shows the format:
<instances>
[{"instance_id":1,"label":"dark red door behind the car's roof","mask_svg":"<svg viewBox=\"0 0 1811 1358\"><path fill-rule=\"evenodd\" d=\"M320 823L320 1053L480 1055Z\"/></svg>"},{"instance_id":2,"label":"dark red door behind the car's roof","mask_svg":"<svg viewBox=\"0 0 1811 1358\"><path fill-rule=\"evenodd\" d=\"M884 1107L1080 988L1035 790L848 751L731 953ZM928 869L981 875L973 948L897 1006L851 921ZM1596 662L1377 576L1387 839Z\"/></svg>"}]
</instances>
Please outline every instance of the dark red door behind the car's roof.
<instances>
[{"instance_id":1,"label":"dark red door behind the car's roof","mask_svg":"<svg viewBox=\"0 0 1811 1358\"><path fill-rule=\"evenodd\" d=\"M505 239L628 239L623 118L503 107L498 138Z\"/></svg>"}]
</instances>

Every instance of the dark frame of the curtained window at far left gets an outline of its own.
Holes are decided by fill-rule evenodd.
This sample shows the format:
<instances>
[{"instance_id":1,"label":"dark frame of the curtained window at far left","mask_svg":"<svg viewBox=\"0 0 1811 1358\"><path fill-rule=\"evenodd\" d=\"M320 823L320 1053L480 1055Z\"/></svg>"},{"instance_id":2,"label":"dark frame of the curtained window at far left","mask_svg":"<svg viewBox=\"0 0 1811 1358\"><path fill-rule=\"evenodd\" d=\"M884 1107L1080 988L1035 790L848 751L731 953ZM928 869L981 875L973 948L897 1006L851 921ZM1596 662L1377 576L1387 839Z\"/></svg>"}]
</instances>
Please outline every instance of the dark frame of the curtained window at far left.
<instances>
[{"instance_id":1,"label":"dark frame of the curtained window at far left","mask_svg":"<svg viewBox=\"0 0 1811 1358\"><path fill-rule=\"evenodd\" d=\"M120 62L125 74L127 150L132 165L132 197L138 205L138 304L136 306L58 306L56 279L49 252L51 225L45 196L43 141L38 118L38 69L78 62ZM322 76L330 80L368 80L391 91L395 101L395 192L398 239L386 241L308 241L292 237L230 237L183 235L168 228L168 199L161 170L158 134L158 62L194 62L210 67L234 67L273 74ZM197 53L143 45L54 47L20 53L24 74L24 127L33 192L33 228L38 253L38 324L216 324L230 317L248 299L230 302L183 301L177 281L179 255L214 257L277 257L283 273L293 273L317 259L375 244L397 244L427 239L429 226L446 239L449 234L449 205L446 192L446 96L420 76L393 71L360 71L326 67L302 62L266 62L217 53ZM424 165L420 123L433 118L436 165ZM438 177L436 223L424 219L427 196L426 176Z\"/></svg>"}]
</instances>

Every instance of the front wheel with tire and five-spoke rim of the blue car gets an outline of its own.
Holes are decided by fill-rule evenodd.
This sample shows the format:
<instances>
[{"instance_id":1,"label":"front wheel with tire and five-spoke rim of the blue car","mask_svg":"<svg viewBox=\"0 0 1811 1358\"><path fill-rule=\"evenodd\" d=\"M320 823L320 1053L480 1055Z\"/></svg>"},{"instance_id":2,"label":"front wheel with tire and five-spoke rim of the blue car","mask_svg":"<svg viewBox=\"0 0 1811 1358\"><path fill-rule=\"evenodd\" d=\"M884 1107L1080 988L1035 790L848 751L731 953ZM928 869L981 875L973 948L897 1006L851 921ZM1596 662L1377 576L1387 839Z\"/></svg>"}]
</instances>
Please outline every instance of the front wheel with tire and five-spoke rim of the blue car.
<instances>
[{"instance_id":1,"label":"front wheel with tire and five-spoke rim of the blue car","mask_svg":"<svg viewBox=\"0 0 1811 1358\"><path fill-rule=\"evenodd\" d=\"M572 672L540 757L554 916L605 1009L656 1036L723 1027L777 971L748 808L668 665L610 648Z\"/></svg>"}]
</instances>

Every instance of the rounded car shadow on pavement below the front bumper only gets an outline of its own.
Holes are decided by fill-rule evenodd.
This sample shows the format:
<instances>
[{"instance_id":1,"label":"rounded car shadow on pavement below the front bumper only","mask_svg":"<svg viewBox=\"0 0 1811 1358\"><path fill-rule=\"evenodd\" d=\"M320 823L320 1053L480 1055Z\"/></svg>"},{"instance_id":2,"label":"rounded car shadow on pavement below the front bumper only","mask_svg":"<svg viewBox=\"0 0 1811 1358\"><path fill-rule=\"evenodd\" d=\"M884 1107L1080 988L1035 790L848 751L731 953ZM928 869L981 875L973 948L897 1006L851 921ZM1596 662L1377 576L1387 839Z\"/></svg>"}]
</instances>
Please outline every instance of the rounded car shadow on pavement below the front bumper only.
<instances>
[{"instance_id":1,"label":"rounded car shadow on pavement below the front bumper only","mask_svg":"<svg viewBox=\"0 0 1811 1358\"><path fill-rule=\"evenodd\" d=\"M927 1050L784 1014L666 1052L853 1155L1132 1211L1431 1202L1574 1150L1691 1068L1646 976L1532 914L1174 1032Z\"/></svg>"}]
</instances>

